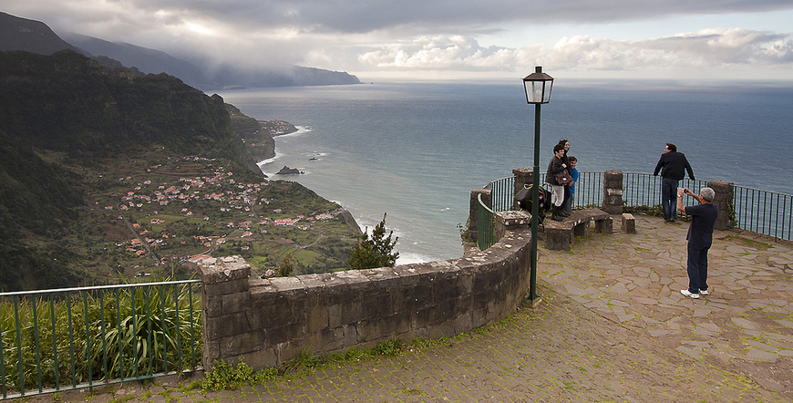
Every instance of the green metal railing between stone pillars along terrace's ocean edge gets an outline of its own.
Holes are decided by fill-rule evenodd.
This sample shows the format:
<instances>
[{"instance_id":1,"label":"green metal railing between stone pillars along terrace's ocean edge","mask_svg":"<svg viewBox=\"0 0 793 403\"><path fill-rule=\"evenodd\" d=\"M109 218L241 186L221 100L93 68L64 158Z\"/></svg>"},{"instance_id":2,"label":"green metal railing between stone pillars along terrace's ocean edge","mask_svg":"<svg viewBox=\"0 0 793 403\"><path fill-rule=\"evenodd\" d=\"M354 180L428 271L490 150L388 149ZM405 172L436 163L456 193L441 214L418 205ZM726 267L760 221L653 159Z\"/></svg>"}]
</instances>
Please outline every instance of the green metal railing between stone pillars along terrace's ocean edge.
<instances>
[{"instance_id":1,"label":"green metal railing between stone pillars along terrace's ocean edge","mask_svg":"<svg viewBox=\"0 0 793 403\"><path fill-rule=\"evenodd\" d=\"M650 173L623 172L623 205L644 210L657 209L660 213L662 180L660 176ZM548 186L544 185L543 172L540 173L540 183ZM514 208L514 186L514 177L491 181L484 186L491 191L493 211L503 212ZM698 193L707 186L707 181L685 178L680 186ZM602 200L603 172L580 172L572 207L600 207ZM685 198L684 201L685 205L696 203L693 198ZM719 207L729 209L736 228L778 239L793 239L793 195L734 186L732 205ZM491 244L484 245L489 247Z\"/></svg>"}]
</instances>

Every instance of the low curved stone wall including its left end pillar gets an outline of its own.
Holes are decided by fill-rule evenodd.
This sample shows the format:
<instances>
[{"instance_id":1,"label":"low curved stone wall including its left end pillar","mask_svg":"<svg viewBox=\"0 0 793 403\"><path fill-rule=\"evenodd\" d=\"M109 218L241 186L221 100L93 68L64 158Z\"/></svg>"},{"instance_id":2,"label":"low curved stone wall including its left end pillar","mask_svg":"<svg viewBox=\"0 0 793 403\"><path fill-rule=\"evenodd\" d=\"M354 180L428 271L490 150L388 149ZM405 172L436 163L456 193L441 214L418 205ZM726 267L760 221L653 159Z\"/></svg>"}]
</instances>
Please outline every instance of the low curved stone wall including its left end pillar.
<instances>
[{"instance_id":1,"label":"low curved stone wall including its left end pillar","mask_svg":"<svg viewBox=\"0 0 793 403\"><path fill-rule=\"evenodd\" d=\"M500 215L500 213L499 213ZM529 291L530 231L516 212L484 252L444 262L271 279L238 256L200 264L203 365L277 366L301 353L455 336L507 317Z\"/></svg>"}]
</instances>

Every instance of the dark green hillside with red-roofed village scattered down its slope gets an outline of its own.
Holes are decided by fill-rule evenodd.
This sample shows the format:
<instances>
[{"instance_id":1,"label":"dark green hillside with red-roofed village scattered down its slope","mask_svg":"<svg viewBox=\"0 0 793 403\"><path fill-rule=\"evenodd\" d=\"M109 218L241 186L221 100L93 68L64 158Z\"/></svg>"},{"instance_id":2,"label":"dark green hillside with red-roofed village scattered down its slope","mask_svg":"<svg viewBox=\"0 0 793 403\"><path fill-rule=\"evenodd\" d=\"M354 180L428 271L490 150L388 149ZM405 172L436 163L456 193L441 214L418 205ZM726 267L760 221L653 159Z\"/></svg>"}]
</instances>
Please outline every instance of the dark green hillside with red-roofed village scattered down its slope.
<instances>
[{"instance_id":1,"label":"dark green hillside with red-roofed village scattered down its slope","mask_svg":"<svg viewBox=\"0 0 793 403\"><path fill-rule=\"evenodd\" d=\"M344 267L358 233L338 205L264 179L272 150L262 122L178 78L0 52L0 290L190 276L200 253Z\"/></svg>"}]
</instances>

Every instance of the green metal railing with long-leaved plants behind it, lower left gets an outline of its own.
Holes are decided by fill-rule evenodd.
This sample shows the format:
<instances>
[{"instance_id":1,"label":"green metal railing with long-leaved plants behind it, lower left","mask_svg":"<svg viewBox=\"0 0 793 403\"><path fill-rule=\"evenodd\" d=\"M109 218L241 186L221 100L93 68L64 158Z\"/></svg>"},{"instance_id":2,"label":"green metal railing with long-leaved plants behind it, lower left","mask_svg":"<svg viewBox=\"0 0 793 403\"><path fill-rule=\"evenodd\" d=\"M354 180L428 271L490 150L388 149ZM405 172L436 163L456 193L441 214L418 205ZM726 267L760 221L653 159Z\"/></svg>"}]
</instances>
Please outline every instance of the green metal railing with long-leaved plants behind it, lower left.
<instances>
[{"instance_id":1,"label":"green metal railing with long-leaved plants behind it, lower left","mask_svg":"<svg viewBox=\"0 0 793 403\"><path fill-rule=\"evenodd\" d=\"M0 294L2 398L201 366L201 280Z\"/></svg>"}]
</instances>

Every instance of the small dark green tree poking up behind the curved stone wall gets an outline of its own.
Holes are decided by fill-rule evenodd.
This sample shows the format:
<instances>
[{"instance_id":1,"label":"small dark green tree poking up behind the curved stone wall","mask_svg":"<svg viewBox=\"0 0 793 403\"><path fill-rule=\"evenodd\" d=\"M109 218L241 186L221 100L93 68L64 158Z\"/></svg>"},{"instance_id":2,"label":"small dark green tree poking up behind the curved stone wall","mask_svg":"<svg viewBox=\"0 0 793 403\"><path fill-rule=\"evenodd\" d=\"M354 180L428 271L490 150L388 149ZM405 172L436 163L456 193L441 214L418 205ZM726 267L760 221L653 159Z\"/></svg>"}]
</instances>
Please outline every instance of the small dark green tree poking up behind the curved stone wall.
<instances>
[{"instance_id":1,"label":"small dark green tree poking up behind the curved stone wall","mask_svg":"<svg viewBox=\"0 0 793 403\"><path fill-rule=\"evenodd\" d=\"M394 267L397 263L398 252L393 252L397 245L398 237L391 240L394 232L388 233L386 237L386 214L383 214L383 221L379 222L375 230L372 231L372 238L369 238L367 231L361 235L361 239L355 243L350 250L351 269L374 269L376 267Z\"/></svg>"}]
</instances>

